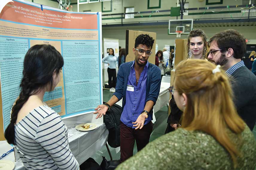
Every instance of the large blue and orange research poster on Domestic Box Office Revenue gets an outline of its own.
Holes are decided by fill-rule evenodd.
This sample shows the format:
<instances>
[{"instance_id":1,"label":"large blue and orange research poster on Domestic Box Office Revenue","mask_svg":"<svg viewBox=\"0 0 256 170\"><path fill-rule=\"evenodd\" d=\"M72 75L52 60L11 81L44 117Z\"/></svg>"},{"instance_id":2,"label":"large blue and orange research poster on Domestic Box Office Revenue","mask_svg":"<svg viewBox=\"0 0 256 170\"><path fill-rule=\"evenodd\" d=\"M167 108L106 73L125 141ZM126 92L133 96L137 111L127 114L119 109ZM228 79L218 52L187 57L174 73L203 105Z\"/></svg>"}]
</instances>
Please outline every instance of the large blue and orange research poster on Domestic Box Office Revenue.
<instances>
[{"instance_id":1,"label":"large blue and orange research poster on Domestic Box Office Revenue","mask_svg":"<svg viewBox=\"0 0 256 170\"><path fill-rule=\"evenodd\" d=\"M63 56L61 81L44 96L45 103L62 118L94 112L103 101L101 13L75 13L13 1L0 13L2 140L20 92L25 53L35 44L51 44Z\"/></svg>"}]
</instances>

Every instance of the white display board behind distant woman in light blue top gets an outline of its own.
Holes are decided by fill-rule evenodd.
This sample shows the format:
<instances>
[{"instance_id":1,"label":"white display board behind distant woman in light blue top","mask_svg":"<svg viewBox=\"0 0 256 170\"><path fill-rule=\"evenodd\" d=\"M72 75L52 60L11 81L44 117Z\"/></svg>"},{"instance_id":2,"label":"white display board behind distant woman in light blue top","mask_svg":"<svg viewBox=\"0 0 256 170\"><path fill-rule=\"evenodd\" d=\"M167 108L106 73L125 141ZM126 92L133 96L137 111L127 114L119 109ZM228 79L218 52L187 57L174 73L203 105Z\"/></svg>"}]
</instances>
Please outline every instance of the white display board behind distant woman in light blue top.
<instances>
[{"instance_id":1,"label":"white display board behind distant woman in light blue top","mask_svg":"<svg viewBox=\"0 0 256 170\"><path fill-rule=\"evenodd\" d=\"M114 49L115 56L119 56L119 40L112 38L103 38L104 44L104 57L109 55L109 48ZM118 67L118 63L116 64ZM108 68L108 64L104 63L104 69Z\"/></svg>"}]
</instances>

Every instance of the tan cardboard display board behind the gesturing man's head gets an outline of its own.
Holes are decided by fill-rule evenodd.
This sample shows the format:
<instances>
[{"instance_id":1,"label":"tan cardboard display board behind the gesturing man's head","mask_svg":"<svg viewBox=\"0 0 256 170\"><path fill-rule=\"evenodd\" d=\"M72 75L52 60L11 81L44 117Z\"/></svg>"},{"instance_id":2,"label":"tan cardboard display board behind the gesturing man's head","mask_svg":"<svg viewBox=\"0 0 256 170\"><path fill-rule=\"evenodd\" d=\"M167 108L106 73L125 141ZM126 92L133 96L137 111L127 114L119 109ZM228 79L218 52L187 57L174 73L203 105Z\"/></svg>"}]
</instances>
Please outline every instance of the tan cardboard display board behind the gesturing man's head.
<instances>
[{"instance_id":1,"label":"tan cardboard display board behind the gesturing man's head","mask_svg":"<svg viewBox=\"0 0 256 170\"><path fill-rule=\"evenodd\" d=\"M154 44L151 49L152 54L148 58L148 61L152 64L156 63L156 33L153 32L146 32L146 31L134 31L134 30L126 30L126 41L125 41L125 47L126 47L126 62L133 61L135 59L135 55L132 52L132 49L134 48L135 39L138 35L141 34L148 34L151 37L153 37Z\"/></svg>"}]
</instances>

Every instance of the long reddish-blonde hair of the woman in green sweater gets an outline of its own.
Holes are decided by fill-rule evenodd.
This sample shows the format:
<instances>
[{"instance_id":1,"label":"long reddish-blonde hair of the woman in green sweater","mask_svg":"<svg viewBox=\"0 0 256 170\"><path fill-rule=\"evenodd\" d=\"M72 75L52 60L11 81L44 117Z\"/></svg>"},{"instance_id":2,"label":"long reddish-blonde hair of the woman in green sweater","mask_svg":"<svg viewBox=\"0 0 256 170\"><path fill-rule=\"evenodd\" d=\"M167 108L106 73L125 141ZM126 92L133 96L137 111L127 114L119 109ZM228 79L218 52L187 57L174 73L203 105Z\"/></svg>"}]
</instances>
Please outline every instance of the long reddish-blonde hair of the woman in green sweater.
<instances>
[{"instance_id":1,"label":"long reddish-blonde hair of the woman in green sweater","mask_svg":"<svg viewBox=\"0 0 256 170\"><path fill-rule=\"evenodd\" d=\"M182 127L213 136L229 152L236 167L237 156L241 154L227 130L240 137L245 124L234 107L228 77L223 70L213 73L214 68L214 64L199 59L182 61L176 67L175 88L188 98Z\"/></svg>"}]
</instances>

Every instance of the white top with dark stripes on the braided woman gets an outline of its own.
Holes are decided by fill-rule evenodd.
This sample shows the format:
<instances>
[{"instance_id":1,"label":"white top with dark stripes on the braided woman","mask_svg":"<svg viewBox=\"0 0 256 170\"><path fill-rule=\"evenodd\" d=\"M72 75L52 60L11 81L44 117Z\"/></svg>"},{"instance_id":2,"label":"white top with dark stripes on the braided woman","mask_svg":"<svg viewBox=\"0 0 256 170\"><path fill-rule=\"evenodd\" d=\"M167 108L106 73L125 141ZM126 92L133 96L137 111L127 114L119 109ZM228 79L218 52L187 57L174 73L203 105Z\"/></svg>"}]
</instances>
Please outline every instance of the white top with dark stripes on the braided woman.
<instances>
[{"instance_id":1,"label":"white top with dark stripes on the braided woman","mask_svg":"<svg viewBox=\"0 0 256 170\"><path fill-rule=\"evenodd\" d=\"M39 106L15 125L14 147L25 168L79 169L68 145L68 129L47 105Z\"/></svg>"}]
</instances>

